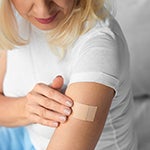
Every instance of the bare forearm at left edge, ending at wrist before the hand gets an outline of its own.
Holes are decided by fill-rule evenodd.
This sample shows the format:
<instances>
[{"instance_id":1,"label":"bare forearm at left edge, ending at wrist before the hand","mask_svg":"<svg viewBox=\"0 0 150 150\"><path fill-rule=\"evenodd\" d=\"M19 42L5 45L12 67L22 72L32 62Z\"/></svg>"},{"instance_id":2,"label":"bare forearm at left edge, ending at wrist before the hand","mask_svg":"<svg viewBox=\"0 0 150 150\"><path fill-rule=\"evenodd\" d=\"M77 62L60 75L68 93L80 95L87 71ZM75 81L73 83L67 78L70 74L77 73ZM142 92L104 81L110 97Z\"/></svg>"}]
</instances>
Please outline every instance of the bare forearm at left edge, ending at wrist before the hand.
<instances>
[{"instance_id":1,"label":"bare forearm at left edge, ending at wrist before the hand","mask_svg":"<svg viewBox=\"0 0 150 150\"><path fill-rule=\"evenodd\" d=\"M0 126L16 127L29 124L24 112L25 98L11 98L0 94Z\"/></svg>"}]
</instances>

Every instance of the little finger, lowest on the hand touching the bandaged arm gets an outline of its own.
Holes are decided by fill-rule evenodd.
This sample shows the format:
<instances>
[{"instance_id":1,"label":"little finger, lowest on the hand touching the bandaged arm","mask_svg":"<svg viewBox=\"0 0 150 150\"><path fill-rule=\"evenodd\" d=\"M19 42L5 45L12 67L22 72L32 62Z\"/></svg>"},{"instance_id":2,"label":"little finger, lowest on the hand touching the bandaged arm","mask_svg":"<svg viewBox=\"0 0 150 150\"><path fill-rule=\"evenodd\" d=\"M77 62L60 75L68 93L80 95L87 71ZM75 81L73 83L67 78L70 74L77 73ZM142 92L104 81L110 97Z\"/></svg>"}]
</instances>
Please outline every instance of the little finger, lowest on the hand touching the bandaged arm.
<instances>
[{"instance_id":1,"label":"little finger, lowest on the hand touching the bandaged arm","mask_svg":"<svg viewBox=\"0 0 150 150\"><path fill-rule=\"evenodd\" d=\"M31 114L30 119L33 120L33 123L41 124L44 126L49 126L52 128L56 128L59 126L59 122L56 122L54 120L44 119L36 114Z\"/></svg>"}]
</instances>

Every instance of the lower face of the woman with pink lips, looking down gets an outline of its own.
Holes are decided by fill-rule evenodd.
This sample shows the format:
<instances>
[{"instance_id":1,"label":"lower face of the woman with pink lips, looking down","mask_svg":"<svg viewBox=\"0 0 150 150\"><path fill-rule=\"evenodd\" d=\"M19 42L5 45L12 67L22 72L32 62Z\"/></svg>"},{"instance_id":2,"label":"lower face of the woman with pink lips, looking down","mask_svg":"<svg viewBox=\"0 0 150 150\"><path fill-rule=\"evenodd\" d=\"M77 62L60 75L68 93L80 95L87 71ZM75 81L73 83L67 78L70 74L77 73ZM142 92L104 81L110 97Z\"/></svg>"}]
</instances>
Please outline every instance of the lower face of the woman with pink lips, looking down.
<instances>
[{"instance_id":1,"label":"lower face of the woman with pink lips, looking down","mask_svg":"<svg viewBox=\"0 0 150 150\"><path fill-rule=\"evenodd\" d=\"M66 17L75 0L11 0L16 10L37 28L50 30Z\"/></svg>"}]
</instances>

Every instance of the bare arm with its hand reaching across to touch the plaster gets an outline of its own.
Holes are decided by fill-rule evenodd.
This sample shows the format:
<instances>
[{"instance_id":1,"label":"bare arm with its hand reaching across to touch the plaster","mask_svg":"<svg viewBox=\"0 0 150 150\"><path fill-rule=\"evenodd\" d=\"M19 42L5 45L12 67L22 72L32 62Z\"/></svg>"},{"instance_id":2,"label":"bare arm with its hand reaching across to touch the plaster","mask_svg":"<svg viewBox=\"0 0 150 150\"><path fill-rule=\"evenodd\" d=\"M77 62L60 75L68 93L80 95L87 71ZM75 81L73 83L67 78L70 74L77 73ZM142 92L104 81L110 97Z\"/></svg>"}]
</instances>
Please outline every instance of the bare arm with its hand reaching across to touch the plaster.
<instances>
[{"instance_id":1,"label":"bare arm with its hand reaching across to touch the plaster","mask_svg":"<svg viewBox=\"0 0 150 150\"><path fill-rule=\"evenodd\" d=\"M3 80L6 71L6 52L0 52L0 126L23 126L38 123L57 127L64 123L70 114L66 101L71 101L58 90L62 78L55 78L52 85L38 83L26 96L14 98L3 94ZM71 112L71 111L70 111Z\"/></svg>"}]
</instances>

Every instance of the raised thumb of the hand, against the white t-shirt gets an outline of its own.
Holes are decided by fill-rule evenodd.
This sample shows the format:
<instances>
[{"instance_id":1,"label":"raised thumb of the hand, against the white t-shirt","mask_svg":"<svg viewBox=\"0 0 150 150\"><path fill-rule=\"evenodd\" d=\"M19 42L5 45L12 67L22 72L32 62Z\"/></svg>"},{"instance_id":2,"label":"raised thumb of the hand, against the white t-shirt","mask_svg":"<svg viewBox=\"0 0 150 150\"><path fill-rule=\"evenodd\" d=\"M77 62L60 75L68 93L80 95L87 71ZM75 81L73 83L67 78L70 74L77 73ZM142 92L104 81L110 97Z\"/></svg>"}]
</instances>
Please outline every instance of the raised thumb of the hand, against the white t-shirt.
<instances>
[{"instance_id":1,"label":"raised thumb of the hand, against the white t-shirt","mask_svg":"<svg viewBox=\"0 0 150 150\"><path fill-rule=\"evenodd\" d=\"M63 79L63 77L62 77L62 76L57 76L57 77L53 80L53 82L52 82L52 84L51 84L51 87L54 88L54 89L58 89L58 90L59 90L59 89L62 88L63 84L64 84L64 79Z\"/></svg>"}]
</instances>

